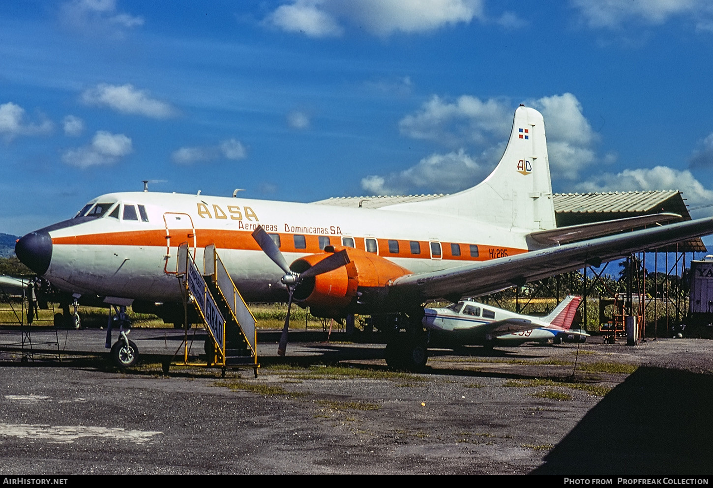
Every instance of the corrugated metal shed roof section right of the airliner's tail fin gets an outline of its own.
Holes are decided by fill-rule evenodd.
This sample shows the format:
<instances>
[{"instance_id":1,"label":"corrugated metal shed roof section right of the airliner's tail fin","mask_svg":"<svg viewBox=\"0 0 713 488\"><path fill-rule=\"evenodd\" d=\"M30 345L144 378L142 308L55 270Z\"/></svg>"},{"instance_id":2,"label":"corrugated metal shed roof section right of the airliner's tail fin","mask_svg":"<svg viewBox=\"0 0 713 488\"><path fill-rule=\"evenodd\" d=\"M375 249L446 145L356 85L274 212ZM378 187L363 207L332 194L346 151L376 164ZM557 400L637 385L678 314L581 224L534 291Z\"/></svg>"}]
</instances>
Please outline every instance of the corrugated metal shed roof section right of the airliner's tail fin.
<instances>
[{"instance_id":1,"label":"corrugated metal shed roof section right of the airliner's tail fin","mask_svg":"<svg viewBox=\"0 0 713 488\"><path fill-rule=\"evenodd\" d=\"M555 213L647 213L660 212L666 200L679 195L678 190L650 192L555 193ZM670 202L667 207L670 207ZM682 199L681 199L681 203ZM675 205L678 207L678 205ZM685 204L682 205L685 209ZM680 212L677 212L680 213Z\"/></svg>"}]
</instances>

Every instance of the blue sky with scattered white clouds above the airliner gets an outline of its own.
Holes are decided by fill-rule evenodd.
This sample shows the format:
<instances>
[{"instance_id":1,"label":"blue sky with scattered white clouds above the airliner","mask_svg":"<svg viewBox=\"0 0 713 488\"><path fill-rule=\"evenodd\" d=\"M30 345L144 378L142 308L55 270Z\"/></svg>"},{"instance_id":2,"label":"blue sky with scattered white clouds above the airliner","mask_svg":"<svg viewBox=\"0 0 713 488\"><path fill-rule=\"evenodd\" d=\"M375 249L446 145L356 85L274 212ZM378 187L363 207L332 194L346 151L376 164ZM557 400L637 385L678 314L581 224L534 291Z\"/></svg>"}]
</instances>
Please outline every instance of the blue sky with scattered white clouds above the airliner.
<instances>
[{"instance_id":1,"label":"blue sky with scattered white clouds above the airliner","mask_svg":"<svg viewBox=\"0 0 713 488\"><path fill-rule=\"evenodd\" d=\"M545 116L556 192L713 214L708 0L0 2L0 232L142 188L455 192ZM704 207L697 209L697 207Z\"/></svg>"}]
</instances>

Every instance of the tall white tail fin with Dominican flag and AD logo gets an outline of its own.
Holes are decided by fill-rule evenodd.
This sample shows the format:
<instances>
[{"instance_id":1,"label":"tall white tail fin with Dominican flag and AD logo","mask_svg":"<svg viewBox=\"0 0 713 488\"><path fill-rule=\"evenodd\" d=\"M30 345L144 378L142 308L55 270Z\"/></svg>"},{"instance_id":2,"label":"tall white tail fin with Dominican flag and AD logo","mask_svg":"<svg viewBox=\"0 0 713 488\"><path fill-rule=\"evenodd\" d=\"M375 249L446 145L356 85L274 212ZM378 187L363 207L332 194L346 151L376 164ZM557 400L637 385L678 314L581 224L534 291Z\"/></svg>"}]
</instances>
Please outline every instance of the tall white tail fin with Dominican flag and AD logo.
<instances>
[{"instance_id":1,"label":"tall white tail fin with Dominican flag and AD logo","mask_svg":"<svg viewBox=\"0 0 713 488\"><path fill-rule=\"evenodd\" d=\"M520 105L503 157L475 187L425 202L384 209L459 215L508 229L553 229L555 208L547 156L545 121L537 110Z\"/></svg>"}]
</instances>

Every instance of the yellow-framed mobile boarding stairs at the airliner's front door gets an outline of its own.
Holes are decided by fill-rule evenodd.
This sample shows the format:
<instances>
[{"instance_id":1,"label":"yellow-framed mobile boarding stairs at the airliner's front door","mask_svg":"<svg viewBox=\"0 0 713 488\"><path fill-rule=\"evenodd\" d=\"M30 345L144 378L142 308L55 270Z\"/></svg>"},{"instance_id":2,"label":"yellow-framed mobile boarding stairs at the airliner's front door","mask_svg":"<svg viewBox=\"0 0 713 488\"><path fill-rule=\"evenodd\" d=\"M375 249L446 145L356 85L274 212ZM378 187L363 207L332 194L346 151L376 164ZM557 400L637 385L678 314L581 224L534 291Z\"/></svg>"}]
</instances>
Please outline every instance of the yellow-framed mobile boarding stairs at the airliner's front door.
<instances>
[{"instance_id":1,"label":"yellow-framed mobile boarding stairs at the airliner's front door","mask_svg":"<svg viewBox=\"0 0 713 488\"><path fill-rule=\"evenodd\" d=\"M205 246L201 274L188 244L178 246L178 278L183 286L185 305L195 307L205 323L205 345L209 366L253 368L257 378L257 328L230 275L220 260L215 244ZM188 364L186 342L185 364Z\"/></svg>"}]
</instances>

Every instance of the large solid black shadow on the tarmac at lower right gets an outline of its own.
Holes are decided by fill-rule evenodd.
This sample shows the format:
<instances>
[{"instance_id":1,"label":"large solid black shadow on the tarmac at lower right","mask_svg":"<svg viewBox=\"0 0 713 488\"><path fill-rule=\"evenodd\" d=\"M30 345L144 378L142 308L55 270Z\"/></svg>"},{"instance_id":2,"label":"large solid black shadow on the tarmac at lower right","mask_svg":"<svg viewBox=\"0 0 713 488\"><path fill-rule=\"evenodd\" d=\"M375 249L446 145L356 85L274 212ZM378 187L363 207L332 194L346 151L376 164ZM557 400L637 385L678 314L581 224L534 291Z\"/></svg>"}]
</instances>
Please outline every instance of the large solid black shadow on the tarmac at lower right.
<instances>
[{"instance_id":1,"label":"large solid black shadow on the tarmac at lower right","mask_svg":"<svg viewBox=\"0 0 713 488\"><path fill-rule=\"evenodd\" d=\"M713 375L641 367L531 474L711 474Z\"/></svg>"}]
</instances>

